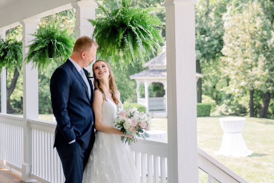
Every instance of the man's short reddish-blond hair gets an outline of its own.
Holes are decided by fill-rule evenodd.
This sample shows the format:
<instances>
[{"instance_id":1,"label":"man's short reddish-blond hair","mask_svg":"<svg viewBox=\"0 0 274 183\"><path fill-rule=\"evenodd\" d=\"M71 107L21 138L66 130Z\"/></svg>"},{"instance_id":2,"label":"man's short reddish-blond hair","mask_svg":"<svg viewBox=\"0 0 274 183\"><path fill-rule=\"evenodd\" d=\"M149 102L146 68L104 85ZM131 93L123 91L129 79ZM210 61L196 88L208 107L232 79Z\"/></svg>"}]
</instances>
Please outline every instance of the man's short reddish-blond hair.
<instances>
[{"instance_id":1,"label":"man's short reddish-blond hair","mask_svg":"<svg viewBox=\"0 0 274 183\"><path fill-rule=\"evenodd\" d=\"M77 51L77 52L87 51L87 49L92 47L92 45L98 48L97 43L93 39L91 39L88 36L81 36L75 41L73 51Z\"/></svg>"}]
</instances>

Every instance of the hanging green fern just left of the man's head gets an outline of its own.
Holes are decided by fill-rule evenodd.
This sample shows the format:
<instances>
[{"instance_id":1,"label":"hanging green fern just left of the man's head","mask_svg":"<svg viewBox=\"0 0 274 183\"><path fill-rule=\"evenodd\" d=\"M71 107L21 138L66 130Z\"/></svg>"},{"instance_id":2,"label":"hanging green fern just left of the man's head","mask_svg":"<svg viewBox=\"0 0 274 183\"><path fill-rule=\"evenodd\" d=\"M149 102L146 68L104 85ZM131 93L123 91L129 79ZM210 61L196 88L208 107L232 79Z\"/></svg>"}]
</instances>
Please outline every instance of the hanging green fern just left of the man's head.
<instances>
[{"instance_id":1,"label":"hanging green fern just left of the man's head","mask_svg":"<svg viewBox=\"0 0 274 183\"><path fill-rule=\"evenodd\" d=\"M75 40L68 34L67 29L60 30L54 23L39 27L37 32L30 34L35 38L27 45L29 48L25 61L32 62L34 67L44 68L51 61L64 62L71 54Z\"/></svg>"}]
</instances>

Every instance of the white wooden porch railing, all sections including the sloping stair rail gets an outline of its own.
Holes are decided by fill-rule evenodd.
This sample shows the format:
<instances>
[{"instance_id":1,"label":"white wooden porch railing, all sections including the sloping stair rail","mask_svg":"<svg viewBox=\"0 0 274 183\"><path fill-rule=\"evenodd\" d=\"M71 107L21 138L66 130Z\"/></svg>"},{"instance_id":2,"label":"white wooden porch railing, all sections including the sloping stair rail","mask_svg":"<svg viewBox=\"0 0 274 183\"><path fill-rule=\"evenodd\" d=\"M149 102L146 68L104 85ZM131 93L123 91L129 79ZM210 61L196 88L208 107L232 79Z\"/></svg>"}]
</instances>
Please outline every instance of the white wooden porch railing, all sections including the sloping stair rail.
<instances>
[{"instance_id":1,"label":"white wooden porch railing, all sections including the sloping stair rail","mask_svg":"<svg viewBox=\"0 0 274 183\"><path fill-rule=\"evenodd\" d=\"M0 159L2 163L19 172L23 160L23 118L9 114L0 114ZM32 129L32 170L30 177L42 183L61 183L65 178L61 161L53 149L54 122L28 120ZM142 183L168 182L166 161L168 144L154 139L138 139L130 146L140 181ZM198 166L208 174L208 182L247 183L223 164L198 148Z\"/></svg>"}]
</instances>

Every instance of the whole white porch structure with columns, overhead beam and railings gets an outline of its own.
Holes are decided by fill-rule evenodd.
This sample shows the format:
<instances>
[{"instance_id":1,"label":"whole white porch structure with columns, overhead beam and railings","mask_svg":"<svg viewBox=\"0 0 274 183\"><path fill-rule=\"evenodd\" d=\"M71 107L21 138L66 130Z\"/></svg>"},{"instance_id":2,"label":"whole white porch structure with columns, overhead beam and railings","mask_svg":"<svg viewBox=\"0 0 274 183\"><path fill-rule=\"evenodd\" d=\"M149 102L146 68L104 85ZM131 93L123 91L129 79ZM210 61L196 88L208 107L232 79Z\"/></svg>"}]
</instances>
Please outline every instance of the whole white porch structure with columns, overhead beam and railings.
<instances>
[{"instance_id":1,"label":"whole white porch structure with columns, overhead beam and railings","mask_svg":"<svg viewBox=\"0 0 274 183\"><path fill-rule=\"evenodd\" d=\"M130 146L140 181L169 183L199 182L198 168L208 182L246 183L241 177L197 148L195 0L166 0L166 88L168 142L139 139ZM76 38L92 35L94 1L1 0L0 37L23 26L23 60L41 17L70 8L76 10ZM22 173L23 182L64 182L56 149L55 122L38 119L38 69L23 64L23 117L6 114L6 75L1 72L0 163ZM167 164L167 178L166 178ZM1 181L0 181L1 182Z\"/></svg>"}]
</instances>

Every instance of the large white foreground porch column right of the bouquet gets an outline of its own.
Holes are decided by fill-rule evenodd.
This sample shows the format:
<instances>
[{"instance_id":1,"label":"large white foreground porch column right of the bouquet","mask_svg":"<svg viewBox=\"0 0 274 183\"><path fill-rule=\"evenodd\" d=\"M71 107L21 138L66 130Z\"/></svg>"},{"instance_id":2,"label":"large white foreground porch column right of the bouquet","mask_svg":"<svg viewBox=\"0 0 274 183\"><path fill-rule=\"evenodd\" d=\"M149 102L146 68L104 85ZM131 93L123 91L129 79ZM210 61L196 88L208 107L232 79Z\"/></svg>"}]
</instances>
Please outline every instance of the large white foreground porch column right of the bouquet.
<instances>
[{"instance_id":1,"label":"large white foreground porch column right of the bouquet","mask_svg":"<svg viewBox=\"0 0 274 183\"><path fill-rule=\"evenodd\" d=\"M166 0L168 182L198 180L195 0Z\"/></svg>"}]
</instances>

